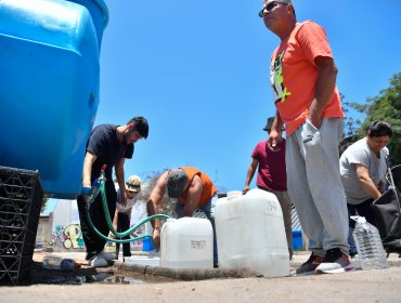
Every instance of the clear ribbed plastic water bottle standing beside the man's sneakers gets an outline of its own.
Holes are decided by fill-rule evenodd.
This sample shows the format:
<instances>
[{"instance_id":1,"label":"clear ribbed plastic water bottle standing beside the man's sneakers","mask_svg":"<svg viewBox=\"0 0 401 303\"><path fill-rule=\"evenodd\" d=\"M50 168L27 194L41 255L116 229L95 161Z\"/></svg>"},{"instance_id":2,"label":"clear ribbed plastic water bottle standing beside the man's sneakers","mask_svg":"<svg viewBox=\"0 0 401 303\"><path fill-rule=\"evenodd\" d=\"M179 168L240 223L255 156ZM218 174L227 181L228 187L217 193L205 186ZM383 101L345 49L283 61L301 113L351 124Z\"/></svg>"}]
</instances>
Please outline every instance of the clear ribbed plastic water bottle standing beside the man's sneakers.
<instances>
[{"instance_id":1,"label":"clear ribbed plastic water bottle standing beside the man's sneakers","mask_svg":"<svg viewBox=\"0 0 401 303\"><path fill-rule=\"evenodd\" d=\"M355 220L354 218L351 218ZM377 228L366 222L364 216L358 216L353 229L353 239L361 260L363 271L387 268L386 251L383 248Z\"/></svg>"}]
</instances>

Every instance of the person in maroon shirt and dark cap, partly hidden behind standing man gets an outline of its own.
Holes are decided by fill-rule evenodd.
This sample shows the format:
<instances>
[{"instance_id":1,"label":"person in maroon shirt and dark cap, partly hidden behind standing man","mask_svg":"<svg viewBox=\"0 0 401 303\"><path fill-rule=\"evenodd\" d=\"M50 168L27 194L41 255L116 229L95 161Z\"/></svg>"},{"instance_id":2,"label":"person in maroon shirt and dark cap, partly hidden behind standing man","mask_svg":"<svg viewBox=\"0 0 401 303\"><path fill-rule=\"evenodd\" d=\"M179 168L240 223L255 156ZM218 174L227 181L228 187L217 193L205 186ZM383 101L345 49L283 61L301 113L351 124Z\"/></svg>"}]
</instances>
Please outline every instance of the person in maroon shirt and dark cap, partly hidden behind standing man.
<instances>
[{"instance_id":1,"label":"person in maroon shirt and dark cap, partly hidden behind standing man","mask_svg":"<svg viewBox=\"0 0 401 303\"><path fill-rule=\"evenodd\" d=\"M274 117L270 117L264 131L268 133L272 128ZM292 225L292 209L287 193L287 173L285 171L285 140L283 139L275 148L268 148L268 142L259 142L254 153L253 160L248 167L244 186L244 193L249 190L249 184L254 179L255 172L258 169L256 185L258 188L274 194L280 202L283 211L285 234L287 237L289 260L293 259L293 225Z\"/></svg>"}]
</instances>

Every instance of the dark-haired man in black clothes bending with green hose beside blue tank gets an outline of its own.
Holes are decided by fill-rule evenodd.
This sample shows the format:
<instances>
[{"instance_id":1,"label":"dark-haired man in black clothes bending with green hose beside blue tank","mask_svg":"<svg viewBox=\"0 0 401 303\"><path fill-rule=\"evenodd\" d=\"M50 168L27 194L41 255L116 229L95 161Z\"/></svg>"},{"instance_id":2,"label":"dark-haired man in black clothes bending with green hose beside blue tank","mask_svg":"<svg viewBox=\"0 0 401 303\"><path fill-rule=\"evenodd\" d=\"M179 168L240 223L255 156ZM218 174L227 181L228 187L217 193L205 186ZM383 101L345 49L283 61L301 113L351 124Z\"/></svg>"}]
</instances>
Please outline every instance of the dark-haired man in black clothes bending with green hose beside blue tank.
<instances>
[{"instance_id":1,"label":"dark-haired man in black clothes bending with green hose beside blue tank","mask_svg":"<svg viewBox=\"0 0 401 303\"><path fill-rule=\"evenodd\" d=\"M87 144L87 153L82 169L82 193L85 188L91 187L100 176L101 168L106 164L105 189L108 211L114 216L117 202L117 193L114 186L112 173L115 168L116 179L120 188L119 205L127 203L125 190L124 163L131 159L134 143L140 139L146 139L148 134L147 120L135 117L126 126L100 124L93 128ZM79 195L77 198L82 238L87 248L86 259L94 267L107 266L107 261L114 259L114 254L104 251L106 240L99 237L89 225L86 214L86 197ZM103 234L108 235L109 228L102 207L102 197L99 195L90 207L90 215L95 227Z\"/></svg>"}]
</instances>

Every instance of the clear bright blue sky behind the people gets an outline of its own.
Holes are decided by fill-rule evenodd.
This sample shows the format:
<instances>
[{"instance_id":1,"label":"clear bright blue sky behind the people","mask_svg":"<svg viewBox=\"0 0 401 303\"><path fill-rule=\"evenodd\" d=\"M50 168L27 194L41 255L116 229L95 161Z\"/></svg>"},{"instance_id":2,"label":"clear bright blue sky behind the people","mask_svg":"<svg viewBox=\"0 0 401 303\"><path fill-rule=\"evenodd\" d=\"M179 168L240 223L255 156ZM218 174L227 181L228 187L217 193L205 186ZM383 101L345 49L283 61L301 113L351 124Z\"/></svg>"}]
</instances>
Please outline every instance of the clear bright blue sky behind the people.
<instances>
[{"instance_id":1,"label":"clear bright blue sky behind the people","mask_svg":"<svg viewBox=\"0 0 401 303\"><path fill-rule=\"evenodd\" d=\"M262 1L104 2L109 19L94 126L135 116L150 123L147 140L126 161L126 179L192 166L219 192L242 190L250 154L275 114L269 70L280 40L258 16ZM294 5L298 22L325 28L346 101L378 95L401 71L400 0Z\"/></svg>"}]
</instances>

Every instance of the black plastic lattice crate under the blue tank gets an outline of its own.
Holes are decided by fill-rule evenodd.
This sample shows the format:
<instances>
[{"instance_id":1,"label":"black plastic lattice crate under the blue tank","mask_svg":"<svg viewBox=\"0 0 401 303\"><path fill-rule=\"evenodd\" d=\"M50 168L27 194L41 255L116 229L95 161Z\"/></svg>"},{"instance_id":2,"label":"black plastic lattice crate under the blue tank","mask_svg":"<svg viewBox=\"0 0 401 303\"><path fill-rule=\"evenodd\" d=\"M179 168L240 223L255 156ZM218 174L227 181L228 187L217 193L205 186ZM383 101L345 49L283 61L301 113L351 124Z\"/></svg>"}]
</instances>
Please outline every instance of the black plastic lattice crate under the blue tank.
<instances>
[{"instance_id":1,"label":"black plastic lattice crate under the blue tank","mask_svg":"<svg viewBox=\"0 0 401 303\"><path fill-rule=\"evenodd\" d=\"M37 171L0 167L0 285L29 274L42 199Z\"/></svg>"}]
</instances>

